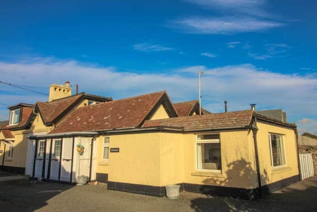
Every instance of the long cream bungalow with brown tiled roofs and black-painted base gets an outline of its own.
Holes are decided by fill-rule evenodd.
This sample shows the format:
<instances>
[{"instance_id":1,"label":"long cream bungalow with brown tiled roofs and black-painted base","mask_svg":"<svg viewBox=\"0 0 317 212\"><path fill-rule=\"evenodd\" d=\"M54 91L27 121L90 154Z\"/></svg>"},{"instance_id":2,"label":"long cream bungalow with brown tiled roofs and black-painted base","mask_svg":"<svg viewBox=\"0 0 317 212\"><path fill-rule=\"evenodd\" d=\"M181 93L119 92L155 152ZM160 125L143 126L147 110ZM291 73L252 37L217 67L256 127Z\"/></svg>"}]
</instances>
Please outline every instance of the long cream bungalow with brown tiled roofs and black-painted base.
<instances>
[{"instance_id":1,"label":"long cream bungalow with brown tiled roofs and black-painted base","mask_svg":"<svg viewBox=\"0 0 317 212\"><path fill-rule=\"evenodd\" d=\"M29 135L31 177L76 183L85 175L158 197L180 184L246 199L300 180L296 126L254 108L197 115L197 102L172 104L160 91L76 107L55 123Z\"/></svg>"}]
</instances>

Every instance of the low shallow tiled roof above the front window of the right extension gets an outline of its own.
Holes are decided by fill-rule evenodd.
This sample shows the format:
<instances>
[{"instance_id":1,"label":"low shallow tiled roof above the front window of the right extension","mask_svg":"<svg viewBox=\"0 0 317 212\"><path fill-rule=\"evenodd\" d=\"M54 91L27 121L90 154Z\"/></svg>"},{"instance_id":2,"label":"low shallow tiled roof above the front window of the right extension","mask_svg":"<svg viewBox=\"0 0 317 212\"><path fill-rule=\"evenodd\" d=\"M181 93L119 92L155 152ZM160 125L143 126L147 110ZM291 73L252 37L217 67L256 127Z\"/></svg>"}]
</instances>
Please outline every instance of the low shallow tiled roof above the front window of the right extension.
<instances>
[{"instance_id":1,"label":"low shallow tiled roof above the front window of the right extension","mask_svg":"<svg viewBox=\"0 0 317 212\"><path fill-rule=\"evenodd\" d=\"M244 110L212 113L201 116L183 116L169 119L148 120L145 121L143 127L181 127L184 130L245 127L250 125L252 115L252 110Z\"/></svg>"}]
</instances>

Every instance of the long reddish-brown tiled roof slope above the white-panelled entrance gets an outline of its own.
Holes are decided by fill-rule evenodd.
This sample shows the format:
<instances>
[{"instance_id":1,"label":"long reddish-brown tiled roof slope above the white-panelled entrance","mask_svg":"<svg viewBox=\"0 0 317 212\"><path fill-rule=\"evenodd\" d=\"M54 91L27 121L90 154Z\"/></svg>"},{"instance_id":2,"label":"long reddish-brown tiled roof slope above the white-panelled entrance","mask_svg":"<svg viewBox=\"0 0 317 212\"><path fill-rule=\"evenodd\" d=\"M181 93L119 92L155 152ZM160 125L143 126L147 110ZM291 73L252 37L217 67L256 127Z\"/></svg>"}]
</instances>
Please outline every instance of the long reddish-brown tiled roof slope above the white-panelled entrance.
<instances>
[{"instance_id":1,"label":"long reddish-brown tiled roof slope above the white-panelled entrance","mask_svg":"<svg viewBox=\"0 0 317 212\"><path fill-rule=\"evenodd\" d=\"M50 134L138 127L164 95L160 91L78 108Z\"/></svg>"}]
</instances>

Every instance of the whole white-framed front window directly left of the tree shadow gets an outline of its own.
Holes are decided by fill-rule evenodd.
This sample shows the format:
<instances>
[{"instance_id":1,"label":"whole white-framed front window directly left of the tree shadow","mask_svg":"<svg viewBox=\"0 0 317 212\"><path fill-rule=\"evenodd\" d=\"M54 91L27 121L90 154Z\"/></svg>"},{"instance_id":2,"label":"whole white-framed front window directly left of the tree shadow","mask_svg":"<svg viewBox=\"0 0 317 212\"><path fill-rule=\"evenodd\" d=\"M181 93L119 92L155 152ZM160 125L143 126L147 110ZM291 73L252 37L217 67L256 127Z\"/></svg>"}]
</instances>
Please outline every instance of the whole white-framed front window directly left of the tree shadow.
<instances>
[{"instance_id":1,"label":"whole white-framed front window directly left of the tree shadow","mask_svg":"<svg viewBox=\"0 0 317 212\"><path fill-rule=\"evenodd\" d=\"M221 172L219 134L197 135L197 170Z\"/></svg>"}]
</instances>

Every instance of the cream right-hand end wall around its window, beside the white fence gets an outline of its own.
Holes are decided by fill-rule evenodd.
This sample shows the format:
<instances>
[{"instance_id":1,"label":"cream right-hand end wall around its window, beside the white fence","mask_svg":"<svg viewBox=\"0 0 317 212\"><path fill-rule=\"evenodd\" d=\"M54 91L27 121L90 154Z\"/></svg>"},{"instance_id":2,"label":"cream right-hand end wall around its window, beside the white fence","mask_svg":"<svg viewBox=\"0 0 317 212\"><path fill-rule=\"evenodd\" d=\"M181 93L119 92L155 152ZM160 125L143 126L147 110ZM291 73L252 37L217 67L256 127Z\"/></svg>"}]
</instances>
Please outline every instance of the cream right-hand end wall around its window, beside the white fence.
<instances>
[{"instance_id":1,"label":"cream right-hand end wall around its window, beside the white fence","mask_svg":"<svg viewBox=\"0 0 317 212\"><path fill-rule=\"evenodd\" d=\"M298 160L297 160L297 146L296 135L293 129L286 127L279 127L273 124L267 124L258 121L259 131L257 133L260 170L262 177L262 184L270 184L294 175L298 175ZM270 147L268 141L268 134L283 135L285 145L286 165L280 168L271 167Z\"/></svg>"}]
</instances>

